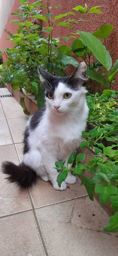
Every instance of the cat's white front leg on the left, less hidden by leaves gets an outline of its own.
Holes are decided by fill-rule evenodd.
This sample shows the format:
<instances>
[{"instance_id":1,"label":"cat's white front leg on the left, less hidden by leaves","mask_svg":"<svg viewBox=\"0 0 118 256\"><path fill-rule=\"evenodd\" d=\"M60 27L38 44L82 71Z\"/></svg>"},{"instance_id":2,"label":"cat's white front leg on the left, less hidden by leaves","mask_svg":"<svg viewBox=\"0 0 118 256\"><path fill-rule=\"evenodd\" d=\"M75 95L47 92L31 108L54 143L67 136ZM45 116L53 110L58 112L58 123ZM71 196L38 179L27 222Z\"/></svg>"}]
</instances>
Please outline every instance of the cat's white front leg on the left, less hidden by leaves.
<instances>
[{"instance_id":1,"label":"cat's white front leg on the left, less hidden by leaves","mask_svg":"<svg viewBox=\"0 0 118 256\"><path fill-rule=\"evenodd\" d=\"M45 155L43 155L43 163L46 168L46 171L49 174L49 179L52 182L53 188L56 190L61 190L61 191L66 190L66 182L65 181L63 181L61 183L60 187L58 186L57 177L58 177L59 173L57 172L56 169L54 169L56 161L57 161L57 159L52 154L49 154L48 152L46 152Z\"/></svg>"}]
</instances>

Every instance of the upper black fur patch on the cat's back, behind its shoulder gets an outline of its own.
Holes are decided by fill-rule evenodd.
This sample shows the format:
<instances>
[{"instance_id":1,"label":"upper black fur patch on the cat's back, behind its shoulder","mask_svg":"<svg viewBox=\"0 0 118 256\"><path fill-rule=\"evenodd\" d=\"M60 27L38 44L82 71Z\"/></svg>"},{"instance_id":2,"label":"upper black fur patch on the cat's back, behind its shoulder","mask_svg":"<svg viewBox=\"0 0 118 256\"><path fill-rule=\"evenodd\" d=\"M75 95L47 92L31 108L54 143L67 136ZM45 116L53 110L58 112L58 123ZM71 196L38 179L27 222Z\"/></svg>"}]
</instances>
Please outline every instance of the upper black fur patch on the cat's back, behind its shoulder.
<instances>
[{"instance_id":1,"label":"upper black fur patch on the cat's back, behind its shoulder","mask_svg":"<svg viewBox=\"0 0 118 256\"><path fill-rule=\"evenodd\" d=\"M35 111L35 113L32 115L31 119L30 119L30 124L29 124L29 128L31 130L35 130L35 128L37 127L37 125L40 122L40 119L43 116L43 113L45 112L46 108L41 108L38 109L37 111Z\"/></svg>"}]
</instances>

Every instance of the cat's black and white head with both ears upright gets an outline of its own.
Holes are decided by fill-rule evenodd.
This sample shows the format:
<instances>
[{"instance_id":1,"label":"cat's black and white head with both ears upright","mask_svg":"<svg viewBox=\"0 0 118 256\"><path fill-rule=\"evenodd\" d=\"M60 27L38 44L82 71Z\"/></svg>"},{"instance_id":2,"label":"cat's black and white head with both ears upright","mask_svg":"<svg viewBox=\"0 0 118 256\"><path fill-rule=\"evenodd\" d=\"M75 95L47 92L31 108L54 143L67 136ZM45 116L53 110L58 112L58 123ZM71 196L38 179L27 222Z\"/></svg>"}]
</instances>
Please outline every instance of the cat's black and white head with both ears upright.
<instances>
[{"instance_id":1,"label":"cat's black and white head with both ears upright","mask_svg":"<svg viewBox=\"0 0 118 256\"><path fill-rule=\"evenodd\" d=\"M57 114L79 108L85 100L86 64L82 62L72 76L56 77L39 67L40 81L45 86L47 107Z\"/></svg>"}]
</instances>

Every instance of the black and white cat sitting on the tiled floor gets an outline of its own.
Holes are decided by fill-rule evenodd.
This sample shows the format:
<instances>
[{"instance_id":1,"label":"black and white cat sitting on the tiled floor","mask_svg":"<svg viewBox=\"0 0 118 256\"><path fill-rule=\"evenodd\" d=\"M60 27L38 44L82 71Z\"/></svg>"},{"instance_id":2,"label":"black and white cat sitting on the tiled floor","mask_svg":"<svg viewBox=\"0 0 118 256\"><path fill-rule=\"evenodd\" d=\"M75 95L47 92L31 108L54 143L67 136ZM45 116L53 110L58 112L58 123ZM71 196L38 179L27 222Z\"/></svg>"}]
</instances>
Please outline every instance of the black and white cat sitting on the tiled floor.
<instances>
[{"instance_id":1,"label":"black and white cat sitting on the tiled floor","mask_svg":"<svg viewBox=\"0 0 118 256\"><path fill-rule=\"evenodd\" d=\"M51 181L56 190L66 190L76 177L69 172L58 186L55 161L67 160L81 143L86 128L88 106L86 103L86 64L79 64L72 76L56 77L39 67L40 81L45 87L46 105L33 113L26 124L23 162L19 166L11 162L2 165L10 182L22 187L36 183L37 176ZM69 168L72 165L69 164Z\"/></svg>"}]
</instances>

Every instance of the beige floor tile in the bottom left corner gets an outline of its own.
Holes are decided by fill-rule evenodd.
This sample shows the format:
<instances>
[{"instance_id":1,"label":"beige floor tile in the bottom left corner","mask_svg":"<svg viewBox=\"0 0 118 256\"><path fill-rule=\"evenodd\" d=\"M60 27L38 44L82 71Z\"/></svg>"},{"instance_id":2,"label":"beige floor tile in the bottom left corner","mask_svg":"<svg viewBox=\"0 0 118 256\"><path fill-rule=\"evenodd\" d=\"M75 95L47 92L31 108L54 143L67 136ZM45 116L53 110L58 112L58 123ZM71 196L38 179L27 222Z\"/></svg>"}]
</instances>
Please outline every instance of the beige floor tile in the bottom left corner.
<instances>
[{"instance_id":1,"label":"beige floor tile in the bottom left corner","mask_svg":"<svg viewBox=\"0 0 118 256\"><path fill-rule=\"evenodd\" d=\"M32 212L0 219L0 256L45 256Z\"/></svg>"}]
</instances>

